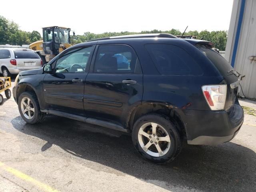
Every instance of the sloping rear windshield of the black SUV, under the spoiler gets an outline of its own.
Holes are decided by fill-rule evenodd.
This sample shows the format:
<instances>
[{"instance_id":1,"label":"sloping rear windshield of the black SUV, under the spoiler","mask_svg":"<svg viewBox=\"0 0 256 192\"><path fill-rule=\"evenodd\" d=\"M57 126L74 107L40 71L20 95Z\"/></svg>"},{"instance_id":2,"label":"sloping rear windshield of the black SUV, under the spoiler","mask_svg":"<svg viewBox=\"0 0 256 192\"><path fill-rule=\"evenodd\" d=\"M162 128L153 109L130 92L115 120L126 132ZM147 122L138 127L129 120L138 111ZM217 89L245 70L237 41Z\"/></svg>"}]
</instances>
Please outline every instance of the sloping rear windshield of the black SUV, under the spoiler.
<instances>
[{"instance_id":1,"label":"sloping rear windshield of the black SUV, under the spoiler","mask_svg":"<svg viewBox=\"0 0 256 192\"><path fill-rule=\"evenodd\" d=\"M211 48L206 48L204 45L196 45L197 48L216 66L220 74L223 76L232 74L232 66L218 52Z\"/></svg>"}]
</instances>

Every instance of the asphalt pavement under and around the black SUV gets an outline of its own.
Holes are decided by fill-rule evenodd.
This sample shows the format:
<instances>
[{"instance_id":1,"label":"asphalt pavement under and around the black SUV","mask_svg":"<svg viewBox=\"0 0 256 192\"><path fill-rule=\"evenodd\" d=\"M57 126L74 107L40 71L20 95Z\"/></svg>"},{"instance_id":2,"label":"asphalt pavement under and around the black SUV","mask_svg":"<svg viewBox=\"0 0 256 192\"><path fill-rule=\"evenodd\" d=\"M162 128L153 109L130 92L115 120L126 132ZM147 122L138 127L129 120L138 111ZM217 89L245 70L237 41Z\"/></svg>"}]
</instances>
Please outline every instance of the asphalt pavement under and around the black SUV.
<instances>
[{"instance_id":1,"label":"asphalt pavement under and around the black SUV","mask_svg":"<svg viewBox=\"0 0 256 192\"><path fill-rule=\"evenodd\" d=\"M186 144L173 162L159 165L143 160L127 134L52 115L26 124L14 98L4 98L0 192L256 191L255 116L245 116L230 142Z\"/></svg>"}]
</instances>

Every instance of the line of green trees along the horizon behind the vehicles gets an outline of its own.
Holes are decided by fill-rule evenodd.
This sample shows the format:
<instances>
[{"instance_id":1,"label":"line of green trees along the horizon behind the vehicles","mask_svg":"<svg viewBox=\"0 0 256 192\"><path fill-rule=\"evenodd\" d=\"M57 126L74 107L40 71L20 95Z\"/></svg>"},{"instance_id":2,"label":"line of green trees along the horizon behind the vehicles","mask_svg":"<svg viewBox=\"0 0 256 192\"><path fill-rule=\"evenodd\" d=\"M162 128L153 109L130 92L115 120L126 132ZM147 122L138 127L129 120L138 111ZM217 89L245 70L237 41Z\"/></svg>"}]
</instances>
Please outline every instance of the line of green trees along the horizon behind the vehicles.
<instances>
[{"instance_id":1,"label":"line of green trees along the horizon behind the vehicles","mask_svg":"<svg viewBox=\"0 0 256 192\"><path fill-rule=\"evenodd\" d=\"M110 36L120 36L120 35L132 35L132 34L152 34L152 33L169 33L172 35L181 35L182 32L177 29L171 30L151 30L151 31L141 31L141 32L104 32L101 34L94 34L91 32L84 32L83 35L75 35L71 36L71 44L78 44L82 42L86 42L88 40L96 39L96 38L104 38ZM188 31L184 35L192 35L196 36L197 39L206 40L213 42L215 48L219 50L225 50L226 42L227 42L227 31L212 31L209 32L207 30L203 30L198 32L197 30ZM30 44L32 42L40 40L41 35L38 31L26 32L19 30L18 24L13 21L9 21L3 16L0 16L0 44L14 44L14 45L21 45L21 44Z\"/></svg>"}]
</instances>

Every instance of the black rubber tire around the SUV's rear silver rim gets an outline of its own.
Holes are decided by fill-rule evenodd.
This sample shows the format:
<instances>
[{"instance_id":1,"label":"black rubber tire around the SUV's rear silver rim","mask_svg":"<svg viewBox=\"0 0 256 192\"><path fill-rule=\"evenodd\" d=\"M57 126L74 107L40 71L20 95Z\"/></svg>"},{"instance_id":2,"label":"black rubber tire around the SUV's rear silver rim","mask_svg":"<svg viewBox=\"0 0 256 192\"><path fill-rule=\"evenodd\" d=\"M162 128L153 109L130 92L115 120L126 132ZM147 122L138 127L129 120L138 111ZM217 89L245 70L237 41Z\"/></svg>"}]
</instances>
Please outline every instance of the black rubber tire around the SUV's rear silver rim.
<instances>
[{"instance_id":1,"label":"black rubber tire around the SUV's rear silver rim","mask_svg":"<svg viewBox=\"0 0 256 192\"><path fill-rule=\"evenodd\" d=\"M142 149L142 146L140 145L140 142L139 142L140 135L138 134L139 130L142 127L142 125L145 125L146 123L150 123L150 122L153 122L153 123L156 123L156 124L162 126L162 128L164 128L166 130L166 132L168 133L168 135L170 137L170 146L165 148L166 149L166 150L164 150L165 154L162 156L158 156L158 157L152 156L152 155L148 154L146 151L144 151ZM162 128L160 128L160 129L162 129ZM159 127L156 129L159 130ZM153 137L152 134L151 134L151 136ZM147 139L148 138L146 138L146 140ZM150 140L150 142L151 142L151 140ZM174 160L174 158L176 158L176 156L178 156L178 154L180 153L180 151L182 149L182 139L178 132L178 128L176 128L174 123L172 123L169 118L167 118L166 116L159 115L159 114L144 115L134 123L133 130L132 130L132 142L135 146L135 149L140 153L140 155L144 159L149 160L151 162L155 162L155 163L166 163L166 162L170 162L170 161ZM146 142L149 142L149 139ZM154 144L154 142L153 142L153 144ZM158 141L155 143L156 143L156 145L160 144ZM168 142L166 142L166 144L168 144ZM151 149L152 149L152 145L150 146ZM156 145L153 146L153 148L154 147L156 148Z\"/></svg>"}]
</instances>

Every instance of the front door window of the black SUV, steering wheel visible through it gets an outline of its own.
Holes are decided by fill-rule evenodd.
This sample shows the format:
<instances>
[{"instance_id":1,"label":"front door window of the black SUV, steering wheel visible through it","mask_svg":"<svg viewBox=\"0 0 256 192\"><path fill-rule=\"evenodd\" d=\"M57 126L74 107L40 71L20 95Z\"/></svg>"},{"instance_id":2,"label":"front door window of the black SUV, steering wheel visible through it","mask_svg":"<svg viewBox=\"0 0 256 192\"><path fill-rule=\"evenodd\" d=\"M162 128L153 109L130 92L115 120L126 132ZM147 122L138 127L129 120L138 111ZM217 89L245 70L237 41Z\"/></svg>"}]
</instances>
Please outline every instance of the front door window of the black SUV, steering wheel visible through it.
<instances>
[{"instance_id":1,"label":"front door window of the black SUV, steering wheel visible through it","mask_svg":"<svg viewBox=\"0 0 256 192\"><path fill-rule=\"evenodd\" d=\"M56 62L56 73L85 72L92 47L70 50Z\"/></svg>"}]
</instances>

